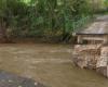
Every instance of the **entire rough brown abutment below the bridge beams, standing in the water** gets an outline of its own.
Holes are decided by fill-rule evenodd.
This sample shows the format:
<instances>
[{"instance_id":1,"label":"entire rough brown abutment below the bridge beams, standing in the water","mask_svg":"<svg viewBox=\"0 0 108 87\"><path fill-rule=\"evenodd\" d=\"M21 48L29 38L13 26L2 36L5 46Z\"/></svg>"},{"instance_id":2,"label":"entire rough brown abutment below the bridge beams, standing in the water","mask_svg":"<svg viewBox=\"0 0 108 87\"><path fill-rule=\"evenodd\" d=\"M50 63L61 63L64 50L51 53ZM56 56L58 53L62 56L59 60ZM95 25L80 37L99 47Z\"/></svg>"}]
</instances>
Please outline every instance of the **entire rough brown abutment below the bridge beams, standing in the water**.
<instances>
[{"instance_id":1,"label":"entire rough brown abutment below the bridge beams, standing in the water","mask_svg":"<svg viewBox=\"0 0 108 87\"><path fill-rule=\"evenodd\" d=\"M81 69L96 70L96 72L108 77L108 47L77 45L72 60Z\"/></svg>"}]
</instances>

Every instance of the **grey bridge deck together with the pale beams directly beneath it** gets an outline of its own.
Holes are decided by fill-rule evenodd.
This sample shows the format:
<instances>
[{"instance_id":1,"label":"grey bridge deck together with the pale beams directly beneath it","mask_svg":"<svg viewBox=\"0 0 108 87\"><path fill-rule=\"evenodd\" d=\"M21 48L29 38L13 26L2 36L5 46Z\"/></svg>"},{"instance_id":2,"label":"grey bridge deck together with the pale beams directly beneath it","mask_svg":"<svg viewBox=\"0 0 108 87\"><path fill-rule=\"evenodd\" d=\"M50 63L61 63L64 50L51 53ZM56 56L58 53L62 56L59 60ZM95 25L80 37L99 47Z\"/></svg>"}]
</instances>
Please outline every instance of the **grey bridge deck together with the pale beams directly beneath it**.
<instances>
[{"instance_id":1,"label":"grey bridge deck together with the pale beams directly beneath it","mask_svg":"<svg viewBox=\"0 0 108 87\"><path fill-rule=\"evenodd\" d=\"M76 32L78 44L108 44L108 22L95 22L91 27Z\"/></svg>"}]
</instances>

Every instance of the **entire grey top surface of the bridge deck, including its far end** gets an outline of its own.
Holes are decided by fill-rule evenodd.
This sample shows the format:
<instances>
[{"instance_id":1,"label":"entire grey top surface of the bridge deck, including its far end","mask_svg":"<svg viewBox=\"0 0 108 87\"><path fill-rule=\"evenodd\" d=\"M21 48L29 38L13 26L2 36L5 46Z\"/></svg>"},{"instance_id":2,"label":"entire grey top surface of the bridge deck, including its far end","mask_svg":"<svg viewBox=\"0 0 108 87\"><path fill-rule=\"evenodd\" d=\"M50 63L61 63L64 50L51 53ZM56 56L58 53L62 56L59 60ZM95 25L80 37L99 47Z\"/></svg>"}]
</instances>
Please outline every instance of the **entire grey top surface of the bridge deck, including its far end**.
<instances>
[{"instance_id":1,"label":"entire grey top surface of the bridge deck, including its far end","mask_svg":"<svg viewBox=\"0 0 108 87\"><path fill-rule=\"evenodd\" d=\"M108 35L108 15L98 16L87 28L81 29L77 34Z\"/></svg>"}]
</instances>

